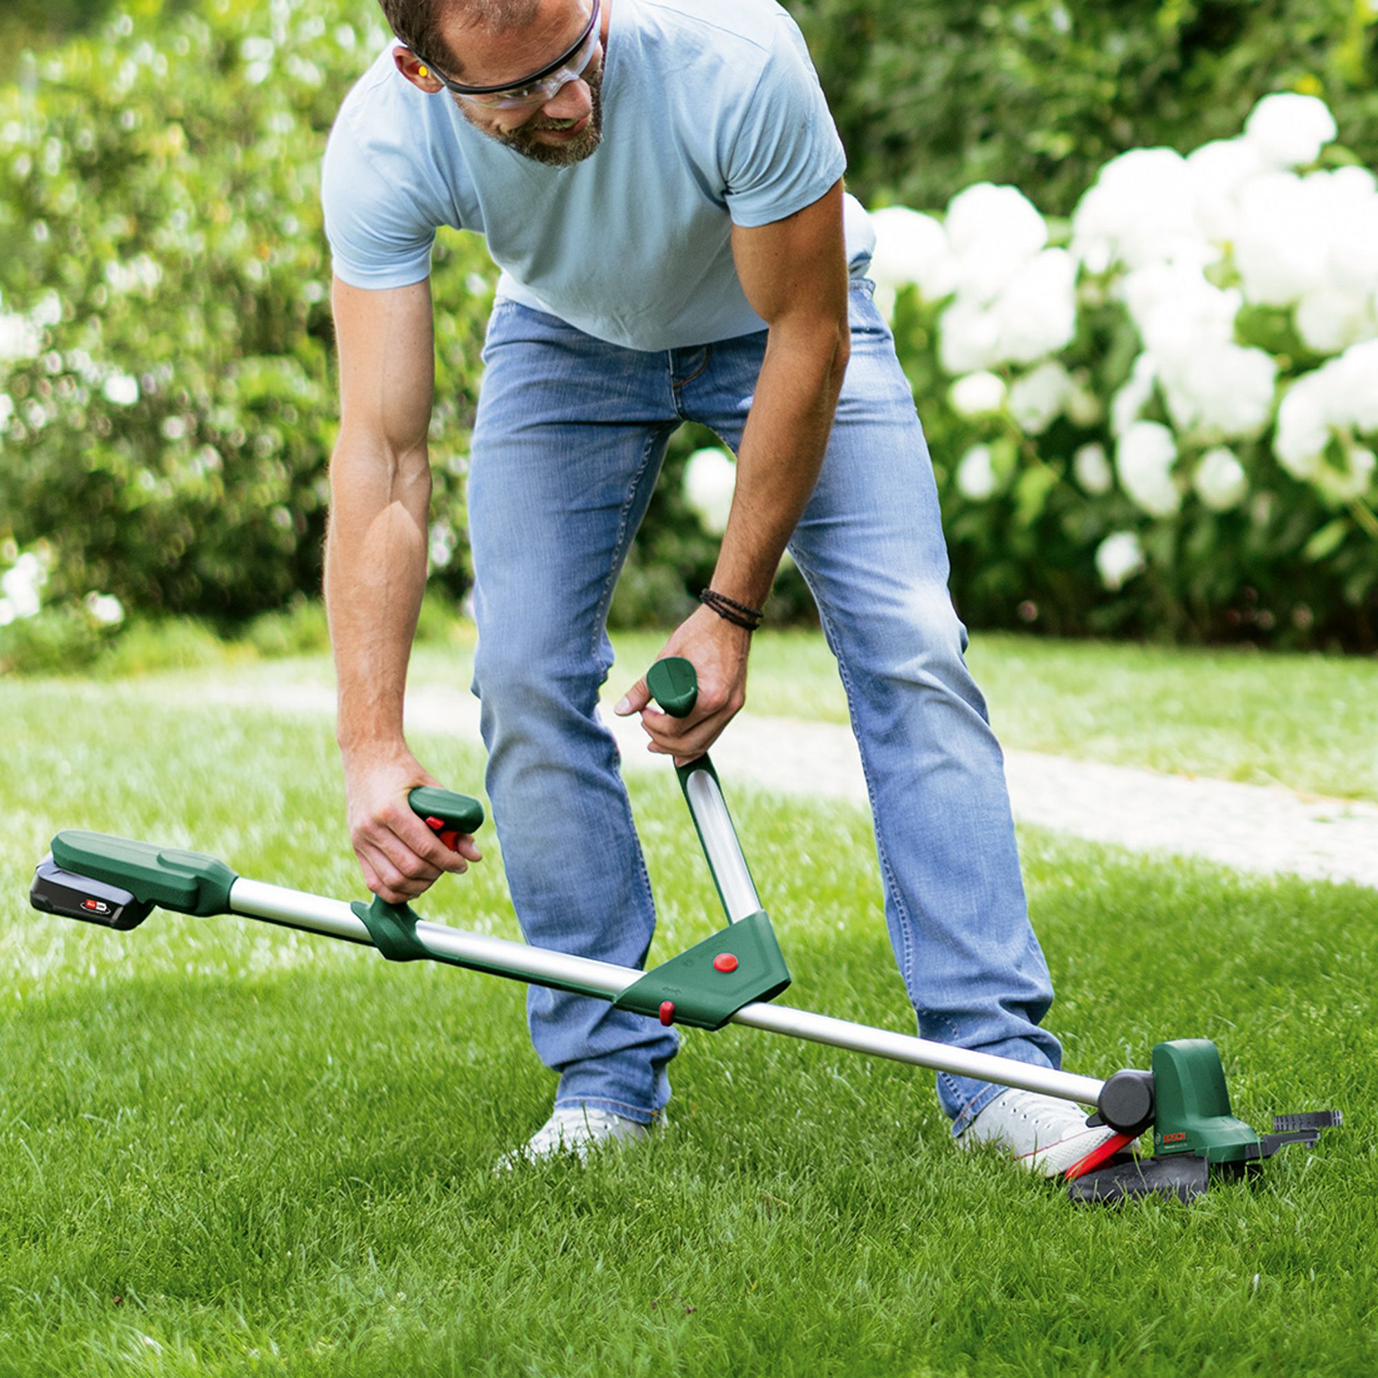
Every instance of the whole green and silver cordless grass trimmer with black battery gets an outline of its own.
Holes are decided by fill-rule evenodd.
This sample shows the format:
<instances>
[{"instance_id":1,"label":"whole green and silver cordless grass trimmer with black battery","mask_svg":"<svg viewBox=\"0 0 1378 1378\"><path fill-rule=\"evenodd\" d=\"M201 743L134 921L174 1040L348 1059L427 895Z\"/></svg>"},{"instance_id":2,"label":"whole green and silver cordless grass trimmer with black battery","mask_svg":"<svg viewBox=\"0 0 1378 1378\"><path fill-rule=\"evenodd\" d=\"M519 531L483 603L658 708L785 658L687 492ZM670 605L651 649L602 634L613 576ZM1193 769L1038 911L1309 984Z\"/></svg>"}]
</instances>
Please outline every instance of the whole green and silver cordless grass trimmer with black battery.
<instances>
[{"instance_id":1,"label":"whole green and silver cordless grass trimmer with black battery","mask_svg":"<svg viewBox=\"0 0 1378 1378\"><path fill-rule=\"evenodd\" d=\"M688 660L659 660L646 682L666 712L683 717L693 708L697 682ZM376 896L371 904L350 904L251 881L211 856L101 832L59 832L39 864L30 901L50 914L120 930L136 927L154 908L201 918L237 914L375 947L391 962L446 962L595 996L666 1025L741 1024L1057 1096L1094 1107L1089 1123L1116 1131L1067 1173L1068 1192L1078 1202L1145 1195L1191 1200L1206 1191L1213 1169L1244 1173L1288 1144L1313 1145L1322 1129L1341 1123L1337 1111L1284 1115L1275 1118L1273 1133L1255 1133L1231 1113L1220 1053L1207 1039L1159 1043L1149 1071L1126 1069L1098 1080L774 1003L790 985L790 971L718 773L707 755L677 766L677 773L728 926L649 971L427 923L409 905ZM413 790L411 806L449 846L484 821L477 799L446 790ZM1131 1156L1127 1149L1149 1129L1152 1158Z\"/></svg>"}]
</instances>

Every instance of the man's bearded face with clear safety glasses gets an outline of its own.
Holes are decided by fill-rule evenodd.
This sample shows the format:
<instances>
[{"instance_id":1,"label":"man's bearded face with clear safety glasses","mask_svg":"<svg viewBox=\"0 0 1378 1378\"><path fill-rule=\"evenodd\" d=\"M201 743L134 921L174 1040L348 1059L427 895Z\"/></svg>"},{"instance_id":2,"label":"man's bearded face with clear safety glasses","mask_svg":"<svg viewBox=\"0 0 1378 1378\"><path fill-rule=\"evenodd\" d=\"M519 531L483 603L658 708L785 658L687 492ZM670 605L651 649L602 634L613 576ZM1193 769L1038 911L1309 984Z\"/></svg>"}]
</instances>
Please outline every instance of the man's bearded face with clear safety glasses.
<instances>
[{"instance_id":1,"label":"man's bearded face with clear safety glasses","mask_svg":"<svg viewBox=\"0 0 1378 1378\"><path fill-rule=\"evenodd\" d=\"M588 44L575 55L577 77L558 90L539 92L521 105L495 106L449 92L464 119L489 138L547 167L569 167L587 158L602 138L602 37L606 36L608 0ZM588 26L591 0L537 0L529 23L503 33L466 25L462 11L445 28L446 50L453 56L445 77L463 85L524 85L532 73L559 62L579 44ZM402 74L427 92L444 90L435 73L398 50ZM566 68L566 72L569 69ZM420 73L426 72L426 76ZM503 99L502 94L497 96Z\"/></svg>"}]
</instances>

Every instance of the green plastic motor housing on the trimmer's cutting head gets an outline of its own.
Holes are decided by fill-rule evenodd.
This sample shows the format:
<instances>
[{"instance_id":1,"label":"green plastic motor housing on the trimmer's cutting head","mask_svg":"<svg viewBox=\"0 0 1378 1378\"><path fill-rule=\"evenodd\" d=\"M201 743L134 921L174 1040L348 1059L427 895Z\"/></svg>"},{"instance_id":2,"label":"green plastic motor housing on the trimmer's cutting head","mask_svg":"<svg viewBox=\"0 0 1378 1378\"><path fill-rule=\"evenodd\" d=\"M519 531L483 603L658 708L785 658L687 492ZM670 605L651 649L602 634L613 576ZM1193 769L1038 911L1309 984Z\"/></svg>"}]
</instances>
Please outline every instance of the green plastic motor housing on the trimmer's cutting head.
<instances>
[{"instance_id":1,"label":"green plastic motor housing on the trimmer's cutting head","mask_svg":"<svg viewBox=\"0 0 1378 1378\"><path fill-rule=\"evenodd\" d=\"M1210 1039L1153 1049L1153 1152L1193 1153L1207 1163L1258 1156L1258 1134L1231 1113L1225 1068Z\"/></svg>"}]
</instances>

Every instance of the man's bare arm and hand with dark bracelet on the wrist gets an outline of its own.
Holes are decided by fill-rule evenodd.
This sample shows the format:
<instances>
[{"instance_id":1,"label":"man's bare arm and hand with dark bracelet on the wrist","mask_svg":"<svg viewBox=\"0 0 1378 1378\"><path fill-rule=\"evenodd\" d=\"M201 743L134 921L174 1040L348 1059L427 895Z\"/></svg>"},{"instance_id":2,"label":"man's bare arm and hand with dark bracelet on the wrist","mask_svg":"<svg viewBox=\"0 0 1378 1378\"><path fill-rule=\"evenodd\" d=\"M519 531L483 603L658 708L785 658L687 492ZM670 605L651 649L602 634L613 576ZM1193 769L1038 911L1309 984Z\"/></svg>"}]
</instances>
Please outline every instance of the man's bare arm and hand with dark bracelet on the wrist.
<instances>
[{"instance_id":1,"label":"man's bare arm and hand with dark bracelet on the wrist","mask_svg":"<svg viewBox=\"0 0 1378 1378\"><path fill-rule=\"evenodd\" d=\"M761 606L823 467L850 349L842 183L772 225L733 226L737 277L769 327L765 361L737 453L737 489L712 587ZM745 701L750 634L700 608L666 644L699 671L699 704L683 719L650 711L652 751L701 755ZM617 706L638 712L638 681Z\"/></svg>"}]
</instances>

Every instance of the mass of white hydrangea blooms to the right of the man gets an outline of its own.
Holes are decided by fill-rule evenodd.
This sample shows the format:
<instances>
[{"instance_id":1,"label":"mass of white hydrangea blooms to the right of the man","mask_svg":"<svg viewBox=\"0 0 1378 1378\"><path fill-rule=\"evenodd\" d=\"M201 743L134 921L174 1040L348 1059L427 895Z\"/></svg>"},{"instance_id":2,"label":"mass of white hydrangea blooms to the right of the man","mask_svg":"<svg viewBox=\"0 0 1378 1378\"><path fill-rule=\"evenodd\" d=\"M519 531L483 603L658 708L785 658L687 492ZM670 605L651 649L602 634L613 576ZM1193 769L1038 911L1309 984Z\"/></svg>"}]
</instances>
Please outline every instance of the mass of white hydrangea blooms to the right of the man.
<instances>
[{"instance_id":1,"label":"mass of white hydrangea blooms to the right of the man","mask_svg":"<svg viewBox=\"0 0 1378 1378\"><path fill-rule=\"evenodd\" d=\"M1327 503L1370 500L1378 179L1342 158L1319 165L1335 136L1324 102L1276 94L1255 105L1237 138L1185 157L1124 153L1078 204L1068 249L1049 247L1047 223L1014 187L967 187L941 218L878 211L878 299L893 306L912 285L941 309L937 357L958 416L1025 437L1060 416L1082 430L1104 424L1105 444L1087 437L1071 456L1071 477L1090 497L1118 485L1151 518L1175 517L1188 499L1226 513L1248 497L1248 466L1271 444L1283 469ZM1112 300L1123 303L1138 353L1102 402L1087 371L1069 372L1064 350L1079 309ZM1299 351L1275 357L1244 342L1250 321L1276 327L1279 313ZM1310 371L1280 376L1295 369L1294 357ZM1010 486L992 455L976 444L958 462L954 482L967 500ZM1109 588L1144 559L1127 531L1096 555Z\"/></svg>"}]
</instances>

